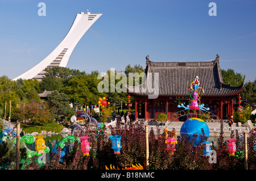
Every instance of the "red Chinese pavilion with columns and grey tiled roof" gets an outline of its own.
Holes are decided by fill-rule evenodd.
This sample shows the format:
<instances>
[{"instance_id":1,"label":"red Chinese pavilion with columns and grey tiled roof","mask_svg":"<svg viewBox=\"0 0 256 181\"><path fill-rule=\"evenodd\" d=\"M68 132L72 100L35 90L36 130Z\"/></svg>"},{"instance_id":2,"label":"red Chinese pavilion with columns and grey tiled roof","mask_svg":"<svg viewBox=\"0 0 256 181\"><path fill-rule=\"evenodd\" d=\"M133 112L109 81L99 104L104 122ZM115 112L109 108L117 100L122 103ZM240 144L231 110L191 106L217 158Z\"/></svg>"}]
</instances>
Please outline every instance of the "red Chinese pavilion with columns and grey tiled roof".
<instances>
[{"instance_id":1,"label":"red Chinese pavilion with columns and grey tiled roof","mask_svg":"<svg viewBox=\"0 0 256 181\"><path fill-rule=\"evenodd\" d=\"M158 96L150 99L150 92L142 90L142 85L137 87L127 86L128 92L135 98L135 120L155 120L160 113L166 113L168 121L178 121L174 113L181 111L179 104L188 104L188 87L198 76L200 86L204 89L201 102L209 107L209 112L220 119L230 119L233 115L233 99L243 90L240 86L230 86L223 82L220 61L217 57L213 61L197 62L152 62L146 57L146 80L150 78L148 73L158 73L159 78L151 78L151 83L158 81ZM129 91L133 89L133 91ZM214 119L214 117L211 117Z\"/></svg>"}]
</instances>

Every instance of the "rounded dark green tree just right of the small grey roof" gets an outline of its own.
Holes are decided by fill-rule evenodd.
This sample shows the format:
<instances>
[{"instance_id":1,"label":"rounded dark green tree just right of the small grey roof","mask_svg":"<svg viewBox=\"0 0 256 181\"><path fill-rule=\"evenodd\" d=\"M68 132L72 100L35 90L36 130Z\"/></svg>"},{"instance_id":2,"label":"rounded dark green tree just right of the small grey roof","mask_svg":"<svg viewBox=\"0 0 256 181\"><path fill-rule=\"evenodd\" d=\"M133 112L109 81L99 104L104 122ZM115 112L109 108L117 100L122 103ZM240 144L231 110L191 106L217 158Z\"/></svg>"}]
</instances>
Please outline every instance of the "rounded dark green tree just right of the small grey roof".
<instances>
[{"instance_id":1,"label":"rounded dark green tree just right of the small grey roof","mask_svg":"<svg viewBox=\"0 0 256 181\"><path fill-rule=\"evenodd\" d=\"M75 115L75 110L69 106L69 96L64 93L53 91L47 95L49 102L49 111L51 112L52 118L59 121L65 121L67 116Z\"/></svg>"}]
</instances>

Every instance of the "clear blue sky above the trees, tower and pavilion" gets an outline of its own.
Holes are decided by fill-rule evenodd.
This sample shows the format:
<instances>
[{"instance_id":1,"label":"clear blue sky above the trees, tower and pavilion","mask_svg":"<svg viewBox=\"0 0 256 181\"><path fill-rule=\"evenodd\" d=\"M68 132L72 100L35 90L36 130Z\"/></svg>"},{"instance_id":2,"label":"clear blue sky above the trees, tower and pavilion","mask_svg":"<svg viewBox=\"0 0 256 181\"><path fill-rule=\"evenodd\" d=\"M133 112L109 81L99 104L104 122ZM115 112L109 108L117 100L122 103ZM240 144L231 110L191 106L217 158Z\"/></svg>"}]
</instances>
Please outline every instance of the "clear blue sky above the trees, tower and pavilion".
<instances>
[{"instance_id":1,"label":"clear blue sky above the trees, tower and pavilion","mask_svg":"<svg viewBox=\"0 0 256 181\"><path fill-rule=\"evenodd\" d=\"M39 2L46 16L39 16ZM210 2L217 16L209 16ZM42 61L63 40L77 13L103 15L77 44L68 68L81 71L151 61L210 61L256 78L254 0L0 0L0 76L13 79Z\"/></svg>"}]
</instances>

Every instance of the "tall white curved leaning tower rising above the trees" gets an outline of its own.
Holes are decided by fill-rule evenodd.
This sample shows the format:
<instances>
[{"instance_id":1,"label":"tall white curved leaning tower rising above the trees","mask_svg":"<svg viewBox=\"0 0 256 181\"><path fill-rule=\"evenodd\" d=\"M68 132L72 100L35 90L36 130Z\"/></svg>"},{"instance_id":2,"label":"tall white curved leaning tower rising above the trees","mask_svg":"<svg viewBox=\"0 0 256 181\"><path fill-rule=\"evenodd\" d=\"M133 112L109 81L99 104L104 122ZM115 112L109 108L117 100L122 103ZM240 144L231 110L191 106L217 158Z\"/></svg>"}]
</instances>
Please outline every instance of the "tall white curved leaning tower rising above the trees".
<instances>
[{"instance_id":1,"label":"tall white curved leaning tower rising above the trees","mask_svg":"<svg viewBox=\"0 0 256 181\"><path fill-rule=\"evenodd\" d=\"M53 66L67 66L68 59L71 56L73 49L79 42L84 33L92 26L102 14L90 14L89 11L85 14L81 12L76 15L76 18L68 31L67 35L61 41L61 43L50 53L44 60L42 60L34 68L26 71L22 75L14 78L16 81L19 78L22 79L38 79L41 81L44 77L44 69Z\"/></svg>"}]
</instances>

